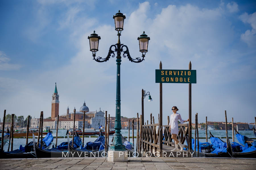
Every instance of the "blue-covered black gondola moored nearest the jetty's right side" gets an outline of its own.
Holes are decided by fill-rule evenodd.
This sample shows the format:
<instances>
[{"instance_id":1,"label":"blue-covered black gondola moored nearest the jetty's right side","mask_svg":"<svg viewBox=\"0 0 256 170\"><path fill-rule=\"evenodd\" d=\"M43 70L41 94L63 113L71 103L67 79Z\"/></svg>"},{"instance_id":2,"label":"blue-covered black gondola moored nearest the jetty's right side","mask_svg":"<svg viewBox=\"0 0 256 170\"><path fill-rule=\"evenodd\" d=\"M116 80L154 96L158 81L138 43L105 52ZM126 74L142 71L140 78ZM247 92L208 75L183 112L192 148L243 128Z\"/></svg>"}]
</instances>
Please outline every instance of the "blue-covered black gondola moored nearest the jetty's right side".
<instances>
[{"instance_id":1,"label":"blue-covered black gondola moored nearest the jetty's right side","mask_svg":"<svg viewBox=\"0 0 256 170\"><path fill-rule=\"evenodd\" d=\"M212 135L212 133L210 132L210 140L211 140L211 143L212 143L211 145L214 146L214 147L212 146L212 148L214 148L214 150L211 150L211 149L209 150L209 149L206 148L206 149L204 149L205 152L199 152L199 156L200 157L233 158L232 148L230 146L230 141L229 141L227 133L226 133L226 137L228 139L228 146L227 146L226 142L222 141L221 139L219 139L217 137L214 137ZM199 145L200 145L200 143L199 143Z\"/></svg>"}]
</instances>

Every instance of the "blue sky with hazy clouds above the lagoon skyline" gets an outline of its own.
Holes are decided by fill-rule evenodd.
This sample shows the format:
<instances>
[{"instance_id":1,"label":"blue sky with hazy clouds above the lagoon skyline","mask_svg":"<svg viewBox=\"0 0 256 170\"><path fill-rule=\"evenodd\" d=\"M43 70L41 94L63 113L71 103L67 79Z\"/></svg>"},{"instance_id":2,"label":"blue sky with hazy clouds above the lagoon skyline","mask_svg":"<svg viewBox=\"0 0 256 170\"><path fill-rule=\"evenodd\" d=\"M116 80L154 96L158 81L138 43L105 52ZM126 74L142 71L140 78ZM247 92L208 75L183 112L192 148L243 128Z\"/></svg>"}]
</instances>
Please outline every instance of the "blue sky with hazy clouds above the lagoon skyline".
<instances>
[{"instance_id":1,"label":"blue sky with hazy clouds above the lagoon skyline","mask_svg":"<svg viewBox=\"0 0 256 170\"><path fill-rule=\"evenodd\" d=\"M121 61L121 116L160 112L155 69L192 69L192 123L255 122L256 3L255 1L0 1L0 118L7 114L51 116L57 83L59 114L77 111L84 101L90 111L115 116L116 61L98 63L88 35L101 37L96 56L105 58L117 43L113 15L125 16L120 41L132 58L141 56L139 37L150 37L141 63ZM121 54L122 56L122 54ZM188 84L163 83L163 124L177 106L188 118Z\"/></svg>"}]
</instances>

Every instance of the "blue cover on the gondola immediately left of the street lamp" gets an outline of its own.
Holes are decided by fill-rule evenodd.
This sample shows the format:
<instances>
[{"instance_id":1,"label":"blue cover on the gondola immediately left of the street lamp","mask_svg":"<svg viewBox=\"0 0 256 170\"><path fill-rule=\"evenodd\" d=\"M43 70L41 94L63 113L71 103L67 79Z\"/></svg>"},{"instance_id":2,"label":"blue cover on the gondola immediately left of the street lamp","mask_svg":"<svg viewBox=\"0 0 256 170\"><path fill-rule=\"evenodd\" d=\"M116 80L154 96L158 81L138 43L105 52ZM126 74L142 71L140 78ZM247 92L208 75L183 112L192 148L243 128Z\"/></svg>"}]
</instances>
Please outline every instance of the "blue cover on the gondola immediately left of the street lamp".
<instances>
[{"instance_id":1,"label":"blue cover on the gondola immediately left of the street lamp","mask_svg":"<svg viewBox=\"0 0 256 170\"><path fill-rule=\"evenodd\" d=\"M99 136L94 142L87 142L84 147L80 146L81 151L92 152L100 151L105 148L105 136Z\"/></svg>"}]
</instances>

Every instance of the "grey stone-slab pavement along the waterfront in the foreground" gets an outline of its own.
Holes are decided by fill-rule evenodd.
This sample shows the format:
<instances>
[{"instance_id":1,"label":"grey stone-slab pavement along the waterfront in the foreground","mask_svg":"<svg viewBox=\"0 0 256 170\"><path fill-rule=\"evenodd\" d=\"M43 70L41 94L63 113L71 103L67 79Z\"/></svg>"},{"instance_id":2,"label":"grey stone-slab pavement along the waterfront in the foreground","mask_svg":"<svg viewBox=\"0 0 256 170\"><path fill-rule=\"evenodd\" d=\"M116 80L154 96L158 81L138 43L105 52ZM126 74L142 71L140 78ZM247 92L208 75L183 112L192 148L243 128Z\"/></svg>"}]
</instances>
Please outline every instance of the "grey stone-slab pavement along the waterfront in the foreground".
<instances>
[{"instance_id":1,"label":"grey stone-slab pavement along the waterfront in the foreground","mask_svg":"<svg viewBox=\"0 0 256 170\"><path fill-rule=\"evenodd\" d=\"M128 158L127 162L107 162L106 158L2 159L0 169L32 170L213 170L256 169L256 159L236 158Z\"/></svg>"}]
</instances>

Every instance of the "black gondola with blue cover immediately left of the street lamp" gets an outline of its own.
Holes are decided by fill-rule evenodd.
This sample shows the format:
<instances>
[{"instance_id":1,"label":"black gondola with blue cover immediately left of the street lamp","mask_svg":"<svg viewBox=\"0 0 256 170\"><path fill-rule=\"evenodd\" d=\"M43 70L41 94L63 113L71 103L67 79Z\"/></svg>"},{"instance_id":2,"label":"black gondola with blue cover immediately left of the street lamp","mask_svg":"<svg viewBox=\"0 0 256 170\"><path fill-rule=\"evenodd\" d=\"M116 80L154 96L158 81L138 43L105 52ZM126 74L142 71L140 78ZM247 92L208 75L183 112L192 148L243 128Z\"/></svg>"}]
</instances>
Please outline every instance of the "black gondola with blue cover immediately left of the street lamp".
<instances>
[{"instance_id":1,"label":"black gondola with blue cover immediately left of the street lamp","mask_svg":"<svg viewBox=\"0 0 256 170\"><path fill-rule=\"evenodd\" d=\"M77 131L76 136L79 137ZM75 149L73 146L69 147L71 157L102 157L105 151L105 136L100 130L100 134L94 142L87 142L84 147L81 145L79 149Z\"/></svg>"}]
</instances>

